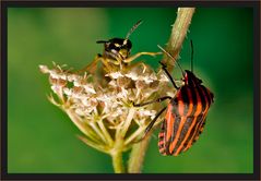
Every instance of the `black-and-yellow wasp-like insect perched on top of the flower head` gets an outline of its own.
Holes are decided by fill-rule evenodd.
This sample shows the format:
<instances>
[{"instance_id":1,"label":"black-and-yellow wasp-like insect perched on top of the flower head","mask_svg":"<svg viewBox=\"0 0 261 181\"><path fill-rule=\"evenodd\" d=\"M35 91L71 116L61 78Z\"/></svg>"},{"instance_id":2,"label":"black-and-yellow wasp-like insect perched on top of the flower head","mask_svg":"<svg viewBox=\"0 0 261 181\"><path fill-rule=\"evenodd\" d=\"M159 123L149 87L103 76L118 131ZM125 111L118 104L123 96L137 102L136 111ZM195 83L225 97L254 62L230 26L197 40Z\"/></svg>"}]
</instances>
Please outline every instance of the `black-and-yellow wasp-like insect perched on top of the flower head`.
<instances>
[{"instance_id":1,"label":"black-and-yellow wasp-like insect perched on top of the flower head","mask_svg":"<svg viewBox=\"0 0 261 181\"><path fill-rule=\"evenodd\" d=\"M97 55L91 64L85 67L82 71L87 71L94 73L97 63L102 61L105 73L117 72L129 67L129 63L140 56L156 56L162 52L138 52L137 55L130 56L132 43L129 39L130 35L137 29L137 27L142 23L138 21L132 28L128 32L126 38L111 38L109 40L97 40L97 44L104 44L103 55Z\"/></svg>"}]
</instances>

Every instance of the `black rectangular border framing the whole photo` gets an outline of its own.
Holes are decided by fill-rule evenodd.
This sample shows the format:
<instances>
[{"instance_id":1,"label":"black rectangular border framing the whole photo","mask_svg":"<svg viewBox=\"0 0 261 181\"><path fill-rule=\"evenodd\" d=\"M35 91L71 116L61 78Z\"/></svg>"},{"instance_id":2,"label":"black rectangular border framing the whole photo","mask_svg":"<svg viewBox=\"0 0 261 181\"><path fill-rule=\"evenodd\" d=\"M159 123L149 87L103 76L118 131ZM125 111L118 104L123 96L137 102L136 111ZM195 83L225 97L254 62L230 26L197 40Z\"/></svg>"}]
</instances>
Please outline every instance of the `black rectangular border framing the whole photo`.
<instances>
[{"instance_id":1,"label":"black rectangular border framing the whole photo","mask_svg":"<svg viewBox=\"0 0 261 181\"><path fill-rule=\"evenodd\" d=\"M7 10L58 7L248 7L253 9L253 173L8 173ZM1 1L1 180L260 180L260 2L259 1Z\"/></svg>"}]
</instances>

